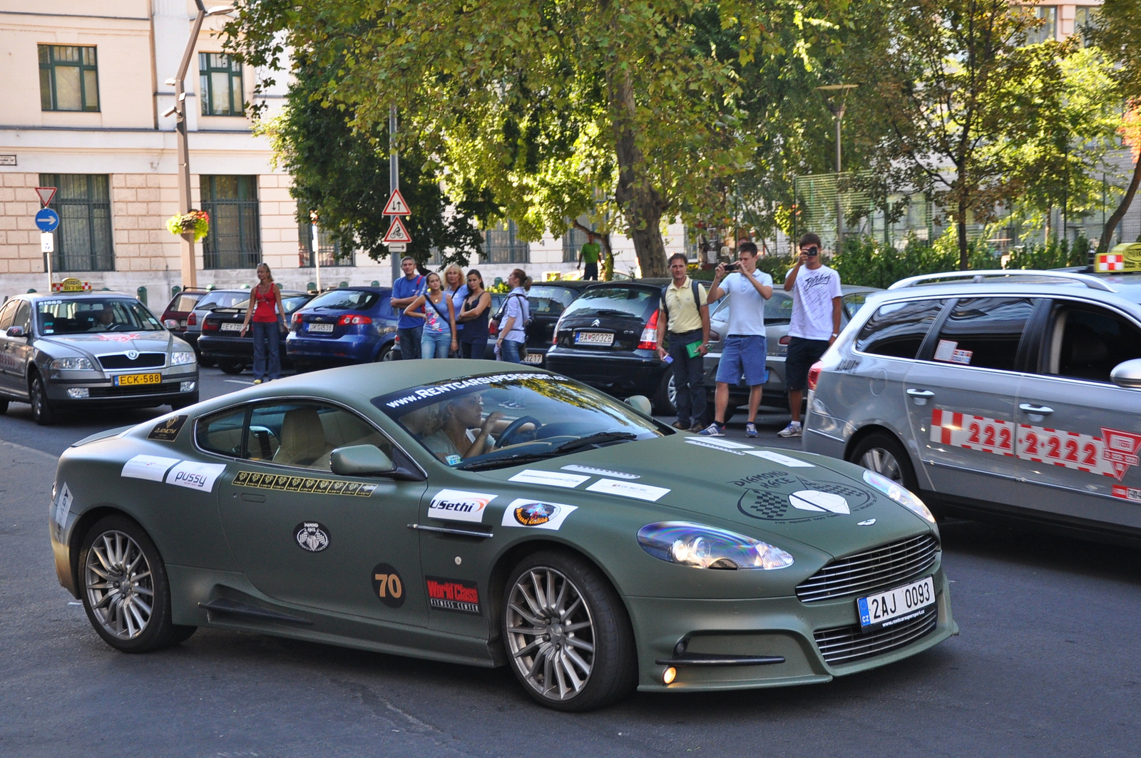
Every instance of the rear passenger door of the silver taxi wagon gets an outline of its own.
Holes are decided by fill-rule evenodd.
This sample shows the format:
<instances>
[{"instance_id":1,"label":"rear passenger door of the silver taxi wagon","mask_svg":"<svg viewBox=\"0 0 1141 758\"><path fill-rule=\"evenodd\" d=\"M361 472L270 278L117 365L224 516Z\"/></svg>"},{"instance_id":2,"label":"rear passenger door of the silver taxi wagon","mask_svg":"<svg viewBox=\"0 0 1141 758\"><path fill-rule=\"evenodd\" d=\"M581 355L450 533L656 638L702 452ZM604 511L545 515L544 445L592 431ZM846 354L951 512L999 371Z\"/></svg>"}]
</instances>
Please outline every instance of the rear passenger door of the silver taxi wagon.
<instances>
[{"instance_id":1,"label":"rear passenger door of the silver taxi wagon","mask_svg":"<svg viewBox=\"0 0 1141 758\"><path fill-rule=\"evenodd\" d=\"M1014 455L1019 350L1035 303L960 298L908 370L912 437L939 494L997 502L1021 497L1005 459Z\"/></svg>"}]
</instances>

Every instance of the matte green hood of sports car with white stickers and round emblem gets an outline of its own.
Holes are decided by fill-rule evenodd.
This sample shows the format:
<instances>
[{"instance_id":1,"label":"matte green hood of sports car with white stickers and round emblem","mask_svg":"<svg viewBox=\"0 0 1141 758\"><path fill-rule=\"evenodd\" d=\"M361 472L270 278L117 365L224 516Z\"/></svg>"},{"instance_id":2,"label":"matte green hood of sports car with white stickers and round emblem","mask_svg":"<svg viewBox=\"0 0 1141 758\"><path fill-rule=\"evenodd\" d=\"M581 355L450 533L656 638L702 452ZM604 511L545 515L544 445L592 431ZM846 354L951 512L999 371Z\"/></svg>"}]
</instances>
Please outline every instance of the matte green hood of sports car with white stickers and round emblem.
<instances>
[{"instance_id":1,"label":"matte green hood of sports car with white stickers and round emblem","mask_svg":"<svg viewBox=\"0 0 1141 758\"><path fill-rule=\"evenodd\" d=\"M865 483L852 463L717 437L671 435L484 474L505 481L523 469L590 475L575 492L626 503L633 498L661 508L663 519L731 529L778 547L794 540L833 556L931 530ZM600 481L610 492L599 492ZM545 498L558 499L556 491L565 501L573 497L568 489L535 486L549 491ZM656 501L646 500L657 494Z\"/></svg>"}]
</instances>

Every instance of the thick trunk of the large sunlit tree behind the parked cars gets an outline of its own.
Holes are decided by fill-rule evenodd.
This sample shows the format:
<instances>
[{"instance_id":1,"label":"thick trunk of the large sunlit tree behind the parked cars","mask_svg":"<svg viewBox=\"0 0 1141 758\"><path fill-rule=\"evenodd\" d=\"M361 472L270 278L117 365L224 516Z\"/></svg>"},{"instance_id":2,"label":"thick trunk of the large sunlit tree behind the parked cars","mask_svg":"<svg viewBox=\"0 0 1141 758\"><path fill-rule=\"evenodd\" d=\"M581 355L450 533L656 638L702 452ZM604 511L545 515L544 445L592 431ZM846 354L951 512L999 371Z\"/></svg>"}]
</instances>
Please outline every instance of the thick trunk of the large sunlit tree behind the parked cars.
<instances>
[{"instance_id":1,"label":"thick trunk of the large sunlit tree behind the parked cars","mask_svg":"<svg viewBox=\"0 0 1141 758\"><path fill-rule=\"evenodd\" d=\"M612 68L606 76L614 129L618 184L614 199L629 223L628 234L642 276L666 276L662 213L666 203L645 175L645 158L634 142L634 92L630 72Z\"/></svg>"}]
</instances>

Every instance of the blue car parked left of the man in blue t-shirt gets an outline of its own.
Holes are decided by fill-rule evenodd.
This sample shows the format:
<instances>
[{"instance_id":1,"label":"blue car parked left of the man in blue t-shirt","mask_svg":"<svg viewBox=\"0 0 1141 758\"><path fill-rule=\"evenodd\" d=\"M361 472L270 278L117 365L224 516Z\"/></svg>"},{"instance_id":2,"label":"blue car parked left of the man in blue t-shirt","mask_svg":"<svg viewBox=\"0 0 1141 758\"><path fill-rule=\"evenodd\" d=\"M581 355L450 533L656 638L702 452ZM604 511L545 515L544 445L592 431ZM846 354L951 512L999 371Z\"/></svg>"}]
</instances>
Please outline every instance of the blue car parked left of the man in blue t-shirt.
<instances>
[{"instance_id":1,"label":"blue car parked left of the man in blue t-shirt","mask_svg":"<svg viewBox=\"0 0 1141 758\"><path fill-rule=\"evenodd\" d=\"M383 361L396 340L387 287L322 292L293 314L285 354L298 368Z\"/></svg>"}]
</instances>

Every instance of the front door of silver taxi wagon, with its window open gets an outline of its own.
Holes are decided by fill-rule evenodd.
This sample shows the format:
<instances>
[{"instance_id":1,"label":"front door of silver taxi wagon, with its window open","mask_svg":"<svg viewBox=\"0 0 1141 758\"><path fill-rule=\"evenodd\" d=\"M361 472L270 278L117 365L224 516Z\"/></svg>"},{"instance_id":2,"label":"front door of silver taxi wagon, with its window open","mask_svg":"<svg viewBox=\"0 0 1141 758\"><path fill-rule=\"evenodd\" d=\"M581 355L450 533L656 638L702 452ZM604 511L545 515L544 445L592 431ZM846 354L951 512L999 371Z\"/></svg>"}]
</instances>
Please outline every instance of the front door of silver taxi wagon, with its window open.
<instances>
[{"instance_id":1,"label":"front door of silver taxi wagon, with its window open","mask_svg":"<svg viewBox=\"0 0 1141 758\"><path fill-rule=\"evenodd\" d=\"M1141 527L1141 390L1110 371L1141 357L1141 324L1082 300L1043 304L1036 370L1018 390L1018 505Z\"/></svg>"}]
</instances>

